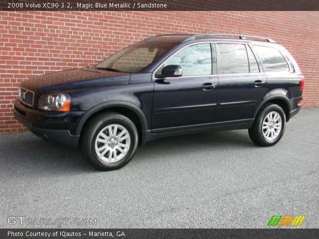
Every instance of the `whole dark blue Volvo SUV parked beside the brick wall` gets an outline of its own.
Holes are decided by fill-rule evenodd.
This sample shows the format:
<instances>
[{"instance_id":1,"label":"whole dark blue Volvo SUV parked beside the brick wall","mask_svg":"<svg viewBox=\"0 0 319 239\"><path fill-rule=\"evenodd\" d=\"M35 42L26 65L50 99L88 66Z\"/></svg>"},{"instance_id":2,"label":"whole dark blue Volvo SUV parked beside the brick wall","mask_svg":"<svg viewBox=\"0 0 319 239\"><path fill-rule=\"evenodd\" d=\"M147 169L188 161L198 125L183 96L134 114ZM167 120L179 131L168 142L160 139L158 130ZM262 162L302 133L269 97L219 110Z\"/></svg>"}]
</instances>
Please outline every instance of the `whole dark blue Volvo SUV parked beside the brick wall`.
<instances>
[{"instance_id":1,"label":"whole dark blue Volvo SUV parked beside the brick wall","mask_svg":"<svg viewBox=\"0 0 319 239\"><path fill-rule=\"evenodd\" d=\"M127 164L138 144L178 134L248 128L257 145L274 145L299 112L303 88L298 64L272 39L167 34L94 67L22 82L14 115L109 170Z\"/></svg>"}]
</instances>

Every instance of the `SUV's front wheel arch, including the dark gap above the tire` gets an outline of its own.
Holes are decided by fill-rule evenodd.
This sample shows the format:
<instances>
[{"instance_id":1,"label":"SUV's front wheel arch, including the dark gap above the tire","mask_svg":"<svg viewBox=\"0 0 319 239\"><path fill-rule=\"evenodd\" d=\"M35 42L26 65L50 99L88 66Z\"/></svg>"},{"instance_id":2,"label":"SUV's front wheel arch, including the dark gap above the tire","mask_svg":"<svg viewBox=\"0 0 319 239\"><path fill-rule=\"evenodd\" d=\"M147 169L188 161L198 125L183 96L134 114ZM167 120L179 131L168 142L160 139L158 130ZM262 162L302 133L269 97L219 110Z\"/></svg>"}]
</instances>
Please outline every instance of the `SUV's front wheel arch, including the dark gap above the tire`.
<instances>
[{"instance_id":1,"label":"SUV's front wheel arch, including the dark gap above the tire","mask_svg":"<svg viewBox=\"0 0 319 239\"><path fill-rule=\"evenodd\" d=\"M106 111L117 112L131 119L139 131L140 139L142 136L142 131L148 129L147 119L143 111L138 106L126 101L112 101L102 103L91 108L80 120L76 129L76 135L81 135L81 132L89 119Z\"/></svg>"}]
</instances>

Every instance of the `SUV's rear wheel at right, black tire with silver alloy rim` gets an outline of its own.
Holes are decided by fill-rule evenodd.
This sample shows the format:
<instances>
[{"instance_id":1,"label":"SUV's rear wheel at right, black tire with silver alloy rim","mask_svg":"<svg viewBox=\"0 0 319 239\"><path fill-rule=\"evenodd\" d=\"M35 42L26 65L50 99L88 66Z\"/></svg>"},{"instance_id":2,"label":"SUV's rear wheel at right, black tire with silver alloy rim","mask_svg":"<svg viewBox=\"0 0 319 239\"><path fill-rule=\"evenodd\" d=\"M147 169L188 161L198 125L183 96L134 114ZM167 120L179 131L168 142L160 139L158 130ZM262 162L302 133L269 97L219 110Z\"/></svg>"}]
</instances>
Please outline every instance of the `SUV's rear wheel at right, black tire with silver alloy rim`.
<instances>
[{"instance_id":1,"label":"SUV's rear wheel at right, black tire with silver alloy rim","mask_svg":"<svg viewBox=\"0 0 319 239\"><path fill-rule=\"evenodd\" d=\"M276 104L265 105L248 129L250 139L257 145L267 147L275 145L284 135L286 115Z\"/></svg>"}]
</instances>

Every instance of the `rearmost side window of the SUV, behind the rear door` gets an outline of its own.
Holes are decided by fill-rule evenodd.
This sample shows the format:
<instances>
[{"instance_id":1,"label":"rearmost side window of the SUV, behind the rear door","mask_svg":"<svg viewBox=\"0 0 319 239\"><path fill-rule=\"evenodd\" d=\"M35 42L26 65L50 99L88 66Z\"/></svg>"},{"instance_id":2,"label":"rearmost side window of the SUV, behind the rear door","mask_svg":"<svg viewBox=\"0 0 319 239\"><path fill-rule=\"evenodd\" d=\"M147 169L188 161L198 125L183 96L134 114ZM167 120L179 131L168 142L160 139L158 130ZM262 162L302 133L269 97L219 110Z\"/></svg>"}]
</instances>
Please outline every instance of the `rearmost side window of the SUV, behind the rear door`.
<instances>
[{"instance_id":1,"label":"rearmost side window of the SUV, behind the rear door","mask_svg":"<svg viewBox=\"0 0 319 239\"><path fill-rule=\"evenodd\" d=\"M289 71L288 63L279 50L267 46L254 46L254 49L261 58L266 72Z\"/></svg>"}]
</instances>

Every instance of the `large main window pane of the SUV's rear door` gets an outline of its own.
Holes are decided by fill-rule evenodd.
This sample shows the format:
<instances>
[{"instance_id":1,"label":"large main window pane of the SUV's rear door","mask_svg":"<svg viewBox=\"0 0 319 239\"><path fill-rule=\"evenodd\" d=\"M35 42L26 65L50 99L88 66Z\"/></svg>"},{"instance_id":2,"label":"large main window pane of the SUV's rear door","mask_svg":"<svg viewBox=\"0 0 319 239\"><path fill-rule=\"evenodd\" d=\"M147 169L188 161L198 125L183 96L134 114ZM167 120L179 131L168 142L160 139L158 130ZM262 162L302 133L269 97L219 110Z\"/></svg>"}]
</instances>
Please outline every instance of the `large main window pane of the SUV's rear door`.
<instances>
[{"instance_id":1,"label":"large main window pane of the SUV's rear door","mask_svg":"<svg viewBox=\"0 0 319 239\"><path fill-rule=\"evenodd\" d=\"M218 74L248 73L249 65L244 44L219 43Z\"/></svg>"}]
</instances>

